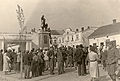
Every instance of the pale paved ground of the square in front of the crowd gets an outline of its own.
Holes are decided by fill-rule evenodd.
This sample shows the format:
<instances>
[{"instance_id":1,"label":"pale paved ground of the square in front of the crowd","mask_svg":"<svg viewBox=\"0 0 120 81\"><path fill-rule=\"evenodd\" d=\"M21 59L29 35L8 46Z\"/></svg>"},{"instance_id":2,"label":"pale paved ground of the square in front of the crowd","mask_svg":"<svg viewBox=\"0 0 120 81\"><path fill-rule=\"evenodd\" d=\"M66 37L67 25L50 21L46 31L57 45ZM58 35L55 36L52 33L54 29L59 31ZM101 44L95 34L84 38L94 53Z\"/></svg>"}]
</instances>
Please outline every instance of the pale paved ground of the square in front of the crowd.
<instances>
[{"instance_id":1,"label":"pale paved ground of the square in front of the crowd","mask_svg":"<svg viewBox=\"0 0 120 81\"><path fill-rule=\"evenodd\" d=\"M49 75L49 72L44 72L43 76L32 79L20 79L20 74L11 73L9 75L4 75L0 72L0 81L90 81L90 75L78 76L77 71L73 68L66 69L66 73L62 75L58 75L56 70L55 75ZM99 81L111 81L107 72L105 72L101 67Z\"/></svg>"}]
</instances>

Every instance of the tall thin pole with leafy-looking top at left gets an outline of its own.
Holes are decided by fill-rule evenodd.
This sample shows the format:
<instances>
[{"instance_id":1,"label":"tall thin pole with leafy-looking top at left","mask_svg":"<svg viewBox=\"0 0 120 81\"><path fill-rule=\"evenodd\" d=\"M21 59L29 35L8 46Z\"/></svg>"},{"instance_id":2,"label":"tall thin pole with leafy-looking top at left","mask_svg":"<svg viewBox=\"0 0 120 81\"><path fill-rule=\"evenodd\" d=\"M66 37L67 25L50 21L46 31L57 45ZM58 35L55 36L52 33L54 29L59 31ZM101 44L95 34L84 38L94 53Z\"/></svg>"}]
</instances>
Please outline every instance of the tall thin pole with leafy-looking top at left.
<instances>
[{"instance_id":1,"label":"tall thin pole with leafy-looking top at left","mask_svg":"<svg viewBox=\"0 0 120 81\"><path fill-rule=\"evenodd\" d=\"M19 36L20 36L20 48L22 46L22 42L23 42L23 31L25 29L24 27L24 21L25 21L25 17L24 17L24 13L23 13L23 9L17 5L17 19L20 25L20 31L19 31ZM21 72L21 79L23 78L23 55L22 55L22 51L21 51L21 67L20 67L20 72Z\"/></svg>"}]
</instances>

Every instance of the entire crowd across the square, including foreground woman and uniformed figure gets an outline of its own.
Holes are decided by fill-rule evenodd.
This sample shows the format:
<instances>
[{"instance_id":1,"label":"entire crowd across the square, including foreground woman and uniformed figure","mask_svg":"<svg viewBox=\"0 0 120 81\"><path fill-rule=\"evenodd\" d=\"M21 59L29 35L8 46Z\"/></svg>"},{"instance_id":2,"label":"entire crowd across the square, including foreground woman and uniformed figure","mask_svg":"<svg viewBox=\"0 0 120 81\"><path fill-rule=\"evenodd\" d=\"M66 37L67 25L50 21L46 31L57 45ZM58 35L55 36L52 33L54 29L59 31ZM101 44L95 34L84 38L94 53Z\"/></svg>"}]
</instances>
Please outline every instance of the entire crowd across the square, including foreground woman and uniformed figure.
<instances>
[{"instance_id":1,"label":"entire crowd across the square, including foreground woman and uniformed figure","mask_svg":"<svg viewBox=\"0 0 120 81\"><path fill-rule=\"evenodd\" d=\"M54 75L55 67L60 75L65 73L66 68L69 67L78 70L79 76L90 73L91 81L95 81L99 77L98 64L100 63L111 79L116 81L116 75L120 76L120 67L116 68L120 65L119 57L119 50L113 42L106 46L101 43L99 48L96 45L84 47L80 44L76 47L61 46L56 48L52 46L49 49L33 48L31 51L19 50L18 52L15 49L5 50L4 53L3 50L0 50L0 71L4 71L5 74L12 70L19 73L22 62L25 79L41 76L45 71Z\"/></svg>"}]
</instances>

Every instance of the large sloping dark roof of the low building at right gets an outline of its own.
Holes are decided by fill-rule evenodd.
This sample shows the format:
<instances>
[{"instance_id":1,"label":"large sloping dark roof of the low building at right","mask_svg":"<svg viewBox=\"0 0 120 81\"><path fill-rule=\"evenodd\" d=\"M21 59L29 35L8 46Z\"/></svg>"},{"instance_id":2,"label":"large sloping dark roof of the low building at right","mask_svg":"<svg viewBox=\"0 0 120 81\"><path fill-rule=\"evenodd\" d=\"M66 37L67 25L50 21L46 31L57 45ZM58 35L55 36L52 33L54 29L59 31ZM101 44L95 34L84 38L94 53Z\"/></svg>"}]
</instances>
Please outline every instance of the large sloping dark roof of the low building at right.
<instances>
[{"instance_id":1,"label":"large sloping dark roof of the low building at right","mask_svg":"<svg viewBox=\"0 0 120 81\"><path fill-rule=\"evenodd\" d=\"M99 27L89 36L89 39L115 35L118 33L120 33L120 22Z\"/></svg>"}]
</instances>

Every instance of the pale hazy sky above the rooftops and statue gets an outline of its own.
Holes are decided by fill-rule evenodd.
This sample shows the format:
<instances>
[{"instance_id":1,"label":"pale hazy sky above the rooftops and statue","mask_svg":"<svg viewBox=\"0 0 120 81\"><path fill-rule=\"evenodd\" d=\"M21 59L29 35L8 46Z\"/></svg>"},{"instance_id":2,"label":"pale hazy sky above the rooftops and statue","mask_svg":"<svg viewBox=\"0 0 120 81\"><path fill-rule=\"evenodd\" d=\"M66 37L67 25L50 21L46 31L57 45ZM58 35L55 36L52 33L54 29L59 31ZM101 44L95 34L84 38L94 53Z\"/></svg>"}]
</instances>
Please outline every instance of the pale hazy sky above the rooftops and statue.
<instances>
[{"instance_id":1,"label":"pale hazy sky above the rooftops and statue","mask_svg":"<svg viewBox=\"0 0 120 81\"><path fill-rule=\"evenodd\" d=\"M0 32L18 33L17 4L27 29L39 28L44 14L51 29L81 28L120 21L120 0L0 0Z\"/></svg>"}]
</instances>

